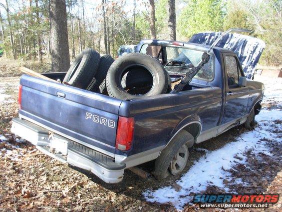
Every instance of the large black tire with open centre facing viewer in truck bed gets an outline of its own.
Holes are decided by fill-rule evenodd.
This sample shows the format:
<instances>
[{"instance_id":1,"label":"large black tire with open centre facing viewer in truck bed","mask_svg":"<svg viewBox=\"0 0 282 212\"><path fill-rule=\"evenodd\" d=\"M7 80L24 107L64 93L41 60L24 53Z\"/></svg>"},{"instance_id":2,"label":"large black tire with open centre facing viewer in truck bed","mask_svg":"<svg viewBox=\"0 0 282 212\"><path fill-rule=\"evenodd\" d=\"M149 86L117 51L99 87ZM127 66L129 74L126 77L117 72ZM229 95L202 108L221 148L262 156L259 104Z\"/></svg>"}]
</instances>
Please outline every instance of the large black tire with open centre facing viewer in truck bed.
<instances>
[{"instance_id":1,"label":"large black tire with open centre facing viewer in truck bed","mask_svg":"<svg viewBox=\"0 0 282 212\"><path fill-rule=\"evenodd\" d=\"M140 93L142 95L127 92L122 86L122 77L127 72L140 69L151 74L153 84L147 87L147 90L143 90L143 93ZM113 62L107 73L106 86L109 95L112 97L120 99L138 98L165 93L168 87L168 77L157 58L144 53L128 53ZM138 87L135 88L135 90L138 90Z\"/></svg>"}]
</instances>

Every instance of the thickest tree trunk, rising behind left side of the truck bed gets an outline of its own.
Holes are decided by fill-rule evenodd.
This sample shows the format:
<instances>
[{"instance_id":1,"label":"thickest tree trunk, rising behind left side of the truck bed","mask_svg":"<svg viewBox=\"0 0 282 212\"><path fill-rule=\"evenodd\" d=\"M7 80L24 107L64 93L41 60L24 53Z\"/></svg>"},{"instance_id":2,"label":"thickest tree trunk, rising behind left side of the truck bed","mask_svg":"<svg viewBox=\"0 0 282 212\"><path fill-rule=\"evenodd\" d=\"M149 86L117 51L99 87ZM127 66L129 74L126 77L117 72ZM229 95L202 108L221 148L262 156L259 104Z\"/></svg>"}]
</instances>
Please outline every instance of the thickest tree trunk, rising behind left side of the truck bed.
<instances>
[{"instance_id":1,"label":"thickest tree trunk, rising behind left side of the truck bed","mask_svg":"<svg viewBox=\"0 0 282 212\"><path fill-rule=\"evenodd\" d=\"M65 0L50 0L49 12L52 71L67 71L70 60Z\"/></svg>"}]
</instances>

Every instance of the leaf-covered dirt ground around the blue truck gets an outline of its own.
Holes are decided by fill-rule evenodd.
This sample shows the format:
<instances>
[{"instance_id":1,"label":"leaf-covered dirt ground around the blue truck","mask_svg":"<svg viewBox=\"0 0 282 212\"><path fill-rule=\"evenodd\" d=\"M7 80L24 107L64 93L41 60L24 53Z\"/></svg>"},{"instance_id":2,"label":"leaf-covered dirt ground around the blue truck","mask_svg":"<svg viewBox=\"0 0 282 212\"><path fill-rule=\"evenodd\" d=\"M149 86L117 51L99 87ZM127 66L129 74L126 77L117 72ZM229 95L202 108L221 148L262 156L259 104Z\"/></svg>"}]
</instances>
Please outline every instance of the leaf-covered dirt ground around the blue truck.
<instances>
[{"instance_id":1,"label":"leaf-covered dirt ground around the blue truck","mask_svg":"<svg viewBox=\"0 0 282 212\"><path fill-rule=\"evenodd\" d=\"M0 58L0 211L175 211L171 204L158 204L145 201L142 192L145 189L157 189L172 185L180 176L170 176L163 181L154 177L143 179L125 170L121 183L107 184L95 175L63 164L36 150L29 142L10 133L12 117L17 116L17 88L20 73L16 70L26 62L18 62ZM29 68L43 70L49 64L32 63ZM40 67L40 68L38 68ZM265 107L273 107L265 103ZM281 124L281 120L277 122ZM274 129L276 126L274 125ZM235 127L222 135L197 144L189 157L189 167L205 151L223 147L240 136L246 129ZM270 143L270 145L272 145ZM248 181L248 186L234 186L238 193L282 193L282 149L273 144L272 153L276 157L260 155L264 164L257 159L259 155L248 155L248 166L234 167L233 174ZM141 168L148 172L153 170L153 162L143 164ZM216 186L209 186L208 193L221 192ZM184 211L199 211L197 205L187 205ZM229 209L233 211L234 209ZM242 210L242 209L240 209ZM250 209L243 209L250 211ZM252 209L253 211L254 209ZM266 209L281 211L279 204ZM211 209L207 210L211 211ZM217 209L216 211L220 211Z\"/></svg>"}]
</instances>

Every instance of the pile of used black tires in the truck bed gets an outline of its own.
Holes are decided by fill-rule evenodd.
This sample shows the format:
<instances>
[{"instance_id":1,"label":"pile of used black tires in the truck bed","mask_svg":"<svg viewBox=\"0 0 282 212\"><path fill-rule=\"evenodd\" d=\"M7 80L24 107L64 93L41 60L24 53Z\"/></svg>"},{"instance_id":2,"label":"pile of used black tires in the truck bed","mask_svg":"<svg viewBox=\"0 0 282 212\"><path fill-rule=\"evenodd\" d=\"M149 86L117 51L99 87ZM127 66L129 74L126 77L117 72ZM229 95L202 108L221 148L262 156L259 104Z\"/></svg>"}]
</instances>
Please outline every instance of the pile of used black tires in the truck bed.
<instances>
[{"instance_id":1,"label":"pile of used black tires in the truck bed","mask_svg":"<svg viewBox=\"0 0 282 212\"><path fill-rule=\"evenodd\" d=\"M84 49L74 60L63 83L115 98L132 99L171 90L170 76L159 60L128 53L114 60L94 49Z\"/></svg>"}]
</instances>

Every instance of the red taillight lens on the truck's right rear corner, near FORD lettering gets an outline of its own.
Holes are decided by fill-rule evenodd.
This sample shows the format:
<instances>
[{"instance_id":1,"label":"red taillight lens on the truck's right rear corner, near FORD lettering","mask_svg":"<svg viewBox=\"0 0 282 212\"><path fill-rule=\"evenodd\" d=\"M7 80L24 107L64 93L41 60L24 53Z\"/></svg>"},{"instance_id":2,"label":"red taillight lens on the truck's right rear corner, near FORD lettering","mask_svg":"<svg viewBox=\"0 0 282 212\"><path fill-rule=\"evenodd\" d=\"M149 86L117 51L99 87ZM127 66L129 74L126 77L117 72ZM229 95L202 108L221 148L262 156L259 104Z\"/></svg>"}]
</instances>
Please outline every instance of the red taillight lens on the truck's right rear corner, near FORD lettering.
<instances>
[{"instance_id":1,"label":"red taillight lens on the truck's right rear corner, near FORD lettering","mask_svg":"<svg viewBox=\"0 0 282 212\"><path fill-rule=\"evenodd\" d=\"M134 132L134 118L119 116L116 132L116 148L122 151L131 148Z\"/></svg>"}]
</instances>

